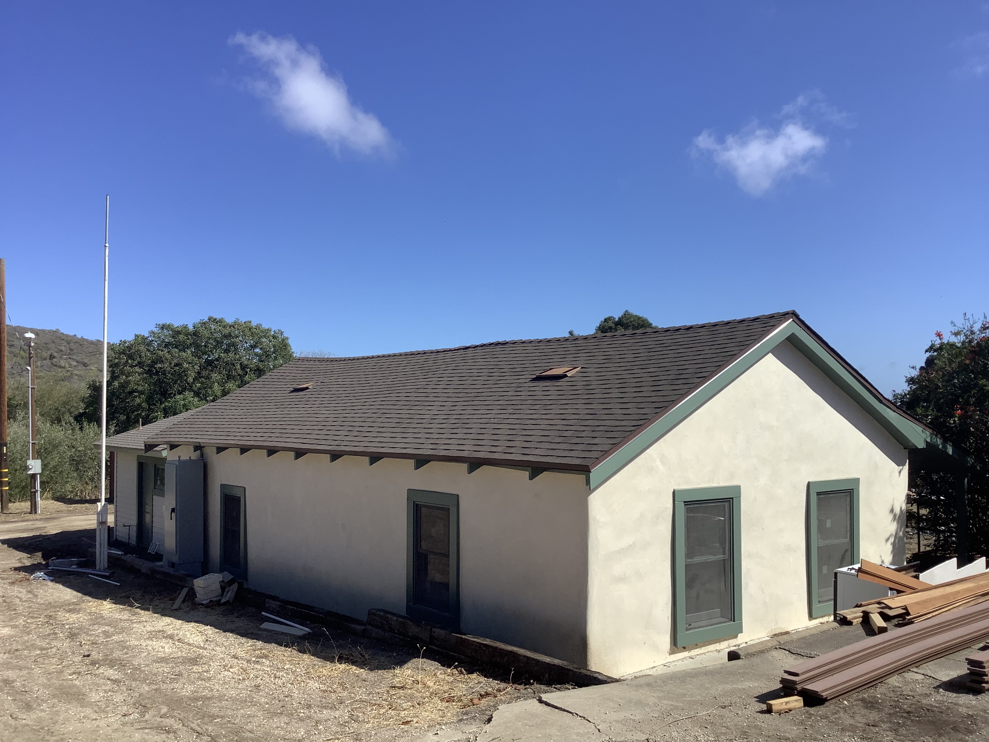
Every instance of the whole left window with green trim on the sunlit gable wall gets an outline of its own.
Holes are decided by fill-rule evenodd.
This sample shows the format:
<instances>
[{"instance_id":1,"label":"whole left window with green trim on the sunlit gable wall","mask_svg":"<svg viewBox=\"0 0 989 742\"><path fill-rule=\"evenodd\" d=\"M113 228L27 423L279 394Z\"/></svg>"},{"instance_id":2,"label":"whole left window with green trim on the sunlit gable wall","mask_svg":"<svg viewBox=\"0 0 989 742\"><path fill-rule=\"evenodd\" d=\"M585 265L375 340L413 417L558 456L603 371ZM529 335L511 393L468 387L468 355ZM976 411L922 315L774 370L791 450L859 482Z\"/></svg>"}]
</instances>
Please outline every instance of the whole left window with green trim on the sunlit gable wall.
<instances>
[{"instance_id":1,"label":"whole left window with green trim on the sunlit gable wall","mask_svg":"<svg viewBox=\"0 0 989 742\"><path fill-rule=\"evenodd\" d=\"M742 633L742 488L674 490L674 641Z\"/></svg>"}]
</instances>

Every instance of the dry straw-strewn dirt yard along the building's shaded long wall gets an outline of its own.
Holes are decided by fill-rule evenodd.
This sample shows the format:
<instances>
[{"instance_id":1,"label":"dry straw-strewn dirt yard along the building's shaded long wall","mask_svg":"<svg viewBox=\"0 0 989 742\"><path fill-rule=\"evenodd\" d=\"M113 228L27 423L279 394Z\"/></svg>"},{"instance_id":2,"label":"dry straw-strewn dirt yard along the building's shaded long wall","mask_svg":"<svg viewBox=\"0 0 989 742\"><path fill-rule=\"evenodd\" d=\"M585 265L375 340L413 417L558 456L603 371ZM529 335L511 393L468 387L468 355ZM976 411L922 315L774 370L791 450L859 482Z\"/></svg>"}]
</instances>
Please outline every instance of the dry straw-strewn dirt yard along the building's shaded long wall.
<instances>
[{"instance_id":1,"label":"dry straw-strewn dirt yard along the building's shaded long wall","mask_svg":"<svg viewBox=\"0 0 989 742\"><path fill-rule=\"evenodd\" d=\"M449 739L499 703L560 690L323 627L301 639L270 632L245 605L187 598L173 611L178 587L126 570L110 578L119 587L67 573L32 580L43 559L79 554L93 533L25 536L22 523L0 518L5 742Z\"/></svg>"}]
</instances>

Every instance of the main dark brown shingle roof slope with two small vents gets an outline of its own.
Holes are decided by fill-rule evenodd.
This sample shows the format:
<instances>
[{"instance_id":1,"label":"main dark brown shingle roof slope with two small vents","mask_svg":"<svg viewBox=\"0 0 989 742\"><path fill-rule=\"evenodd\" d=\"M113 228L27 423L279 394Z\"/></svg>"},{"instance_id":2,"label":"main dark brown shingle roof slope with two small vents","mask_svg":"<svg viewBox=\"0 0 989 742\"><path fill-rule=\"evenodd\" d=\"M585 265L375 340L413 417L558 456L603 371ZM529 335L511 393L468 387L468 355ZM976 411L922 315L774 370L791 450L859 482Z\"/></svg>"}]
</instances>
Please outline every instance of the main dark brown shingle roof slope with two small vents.
<instances>
[{"instance_id":1,"label":"main dark brown shingle roof slope with two small vents","mask_svg":"<svg viewBox=\"0 0 989 742\"><path fill-rule=\"evenodd\" d=\"M587 471L795 317L296 358L144 440Z\"/></svg>"}]
</instances>

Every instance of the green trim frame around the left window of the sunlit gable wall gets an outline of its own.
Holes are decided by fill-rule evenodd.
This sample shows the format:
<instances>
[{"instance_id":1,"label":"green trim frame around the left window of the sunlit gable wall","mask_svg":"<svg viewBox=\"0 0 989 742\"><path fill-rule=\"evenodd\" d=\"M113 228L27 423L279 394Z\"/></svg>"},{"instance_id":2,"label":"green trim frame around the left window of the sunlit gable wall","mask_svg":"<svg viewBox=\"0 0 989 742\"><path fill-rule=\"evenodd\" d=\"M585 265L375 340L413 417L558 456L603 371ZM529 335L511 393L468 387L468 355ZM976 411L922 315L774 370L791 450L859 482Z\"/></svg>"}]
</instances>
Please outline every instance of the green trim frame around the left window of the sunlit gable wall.
<instances>
[{"instance_id":1,"label":"green trim frame around the left window of the sunlit gable wall","mask_svg":"<svg viewBox=\"0 0 989 742\"><path fill-rule=\"evenodd\" d=\"M705 500L731 501L732 511L732 615L735 620L686 630L685 506ZM726 639L742 633L742 488L697 487L674 490L674 641L677 647Z\"/></svg>"}]
</instances>

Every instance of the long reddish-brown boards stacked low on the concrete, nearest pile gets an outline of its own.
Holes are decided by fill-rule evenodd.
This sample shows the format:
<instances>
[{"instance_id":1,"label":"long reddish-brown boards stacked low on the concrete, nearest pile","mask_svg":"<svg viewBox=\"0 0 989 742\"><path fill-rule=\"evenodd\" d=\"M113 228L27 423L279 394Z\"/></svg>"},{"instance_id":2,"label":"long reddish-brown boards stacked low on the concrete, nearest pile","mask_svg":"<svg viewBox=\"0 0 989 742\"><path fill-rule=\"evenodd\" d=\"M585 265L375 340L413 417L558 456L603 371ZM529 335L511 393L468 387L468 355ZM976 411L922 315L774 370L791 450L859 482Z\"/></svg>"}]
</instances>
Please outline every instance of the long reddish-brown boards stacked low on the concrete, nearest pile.
<instances>
[{"instance_id":1,"label":"long reddish-brown boards stacked low on the concrete, nearest pile","mask_svg":"<svg viewBox=\"0 0 989 742\"><path fill-rule=\"evenodd\" d=\"M887 678L989 638L989 603L951 610L923 623L877 634L784 670L784 689L825 700Z\"/></svg>"}]
</instances>

